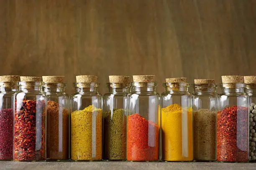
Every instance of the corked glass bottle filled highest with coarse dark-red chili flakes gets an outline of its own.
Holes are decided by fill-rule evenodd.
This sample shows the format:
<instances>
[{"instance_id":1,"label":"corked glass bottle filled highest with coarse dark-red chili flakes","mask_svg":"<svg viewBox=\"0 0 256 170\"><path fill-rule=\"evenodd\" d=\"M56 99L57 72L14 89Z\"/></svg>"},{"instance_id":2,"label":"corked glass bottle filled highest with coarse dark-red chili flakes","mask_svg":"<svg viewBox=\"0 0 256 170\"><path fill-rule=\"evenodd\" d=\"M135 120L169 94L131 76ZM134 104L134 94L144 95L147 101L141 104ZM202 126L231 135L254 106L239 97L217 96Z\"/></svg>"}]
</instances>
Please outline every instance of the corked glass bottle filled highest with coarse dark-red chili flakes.
<instances>
[{"instance_id":1,"label":"corked glass bottle filled highest with coarse dark-red chili flakes","mask_svg":"<svg viewBox=\"0 0 256 170\"><path fill-rule=\"evenodd\" d=\"M20 80L14 96L13 160L45 160L46 94L42 78L20 76Z\"/></svg>"}]
</instances>

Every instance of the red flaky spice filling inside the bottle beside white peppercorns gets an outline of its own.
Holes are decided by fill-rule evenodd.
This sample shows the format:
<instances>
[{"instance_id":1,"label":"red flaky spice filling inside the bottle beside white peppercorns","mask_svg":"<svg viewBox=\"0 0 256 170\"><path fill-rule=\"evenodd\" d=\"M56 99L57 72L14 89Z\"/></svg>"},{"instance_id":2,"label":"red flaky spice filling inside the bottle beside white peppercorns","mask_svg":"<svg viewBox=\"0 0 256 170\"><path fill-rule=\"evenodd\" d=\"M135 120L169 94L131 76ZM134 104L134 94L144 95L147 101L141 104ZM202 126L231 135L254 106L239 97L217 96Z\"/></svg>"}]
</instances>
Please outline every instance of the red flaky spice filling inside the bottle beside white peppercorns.
<instances>
[{"instance_id":1,"label":"red flaky spice filling inside the bottle beside white peppercorns","mask_svg":"<svg viewBox=\"0 0 256 170\"><path fill-rule=\"evenodd\" d=\"M217 161L248 161L248 108L227 107L217 113Z\"/></svg>"}]
</instances>

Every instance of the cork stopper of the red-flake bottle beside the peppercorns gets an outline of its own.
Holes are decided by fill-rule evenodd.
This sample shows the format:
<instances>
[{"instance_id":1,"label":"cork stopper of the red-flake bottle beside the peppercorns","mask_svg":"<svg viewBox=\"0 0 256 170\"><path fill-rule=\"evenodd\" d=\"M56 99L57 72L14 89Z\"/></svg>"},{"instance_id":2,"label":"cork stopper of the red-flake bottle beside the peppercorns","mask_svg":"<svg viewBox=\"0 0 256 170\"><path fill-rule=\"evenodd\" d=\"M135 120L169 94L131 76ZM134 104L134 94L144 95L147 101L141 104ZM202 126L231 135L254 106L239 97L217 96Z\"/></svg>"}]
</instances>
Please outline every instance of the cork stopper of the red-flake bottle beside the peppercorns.
<instances>
[{"instance_id":1,"label":"cork stopper of the red-flake bottle beside the peppercorns","mask_svg":"<svg viewBox=\"0 0 256 170\"><path fill-rule=\"evenodd\" d=\"M236 88L236 83L243 83L243 76L221 76L223 87Z\"/></svg>"}]
</instances>

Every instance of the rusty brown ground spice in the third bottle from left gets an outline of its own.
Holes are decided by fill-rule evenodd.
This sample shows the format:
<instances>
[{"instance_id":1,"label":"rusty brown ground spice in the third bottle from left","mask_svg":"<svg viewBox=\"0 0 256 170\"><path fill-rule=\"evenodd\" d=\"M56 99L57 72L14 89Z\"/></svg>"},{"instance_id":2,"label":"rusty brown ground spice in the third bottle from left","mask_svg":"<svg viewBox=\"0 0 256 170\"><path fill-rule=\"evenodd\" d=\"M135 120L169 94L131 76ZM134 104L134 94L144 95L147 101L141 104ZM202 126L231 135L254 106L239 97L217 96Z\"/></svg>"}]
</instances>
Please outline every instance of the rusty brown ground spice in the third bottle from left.
<instances>
[{"instance_id":1,"label":"rusty brown ground spice in the third bottle from left","mask_svg":"<svg viewBox=\"0 0 256 170\"><path fill-rule=\"evenodd\" d=\"M69 115L55 101L47 101L47 158L69 159Z\"/></svg>"}]
</instances>

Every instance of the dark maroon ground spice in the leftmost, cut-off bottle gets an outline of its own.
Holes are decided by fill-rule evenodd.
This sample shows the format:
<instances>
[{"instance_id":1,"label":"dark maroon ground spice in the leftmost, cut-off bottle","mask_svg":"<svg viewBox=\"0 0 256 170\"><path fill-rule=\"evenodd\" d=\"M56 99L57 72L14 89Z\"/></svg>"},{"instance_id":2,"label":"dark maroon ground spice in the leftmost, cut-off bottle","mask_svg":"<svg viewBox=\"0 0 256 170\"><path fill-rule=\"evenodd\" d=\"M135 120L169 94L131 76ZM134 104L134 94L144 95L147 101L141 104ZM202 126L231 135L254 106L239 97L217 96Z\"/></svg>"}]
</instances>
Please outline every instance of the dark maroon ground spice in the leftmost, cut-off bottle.
<instances>
[{"instance_id":1,"label":"dark maroon ground spice in the leftmost, cut-off bottle","mask_svg":"<svg viewBox=\"0 0 256 170\"><path fill-rule=\"evenodd\" d=\"M13 159L13 109L0 110L0 160Z\"/></svg>"}]
</instances>

